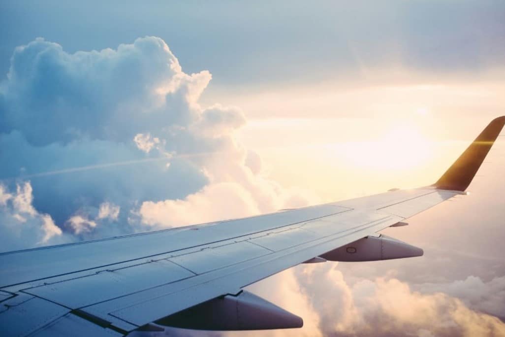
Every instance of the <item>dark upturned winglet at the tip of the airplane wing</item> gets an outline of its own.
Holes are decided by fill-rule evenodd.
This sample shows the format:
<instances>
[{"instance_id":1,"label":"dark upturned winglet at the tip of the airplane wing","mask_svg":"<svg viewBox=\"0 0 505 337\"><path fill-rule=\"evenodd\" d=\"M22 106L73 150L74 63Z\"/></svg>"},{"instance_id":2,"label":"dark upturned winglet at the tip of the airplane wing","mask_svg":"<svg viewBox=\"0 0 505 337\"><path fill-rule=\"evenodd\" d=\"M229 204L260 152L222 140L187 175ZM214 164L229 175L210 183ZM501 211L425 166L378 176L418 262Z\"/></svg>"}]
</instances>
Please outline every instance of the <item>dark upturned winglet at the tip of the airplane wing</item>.
<instances>
[{"instance_id":1,"label":"dark upturned winglet at the tip of the airplane wing","mask_svg":"<svg viewBox=\"0 0 505 337\"><path fill-rule=\"evenodd\" d=\"M504 124L505 116L493 119L433 186L459 191L467 189Z\"/></svg>"}]
</instances>

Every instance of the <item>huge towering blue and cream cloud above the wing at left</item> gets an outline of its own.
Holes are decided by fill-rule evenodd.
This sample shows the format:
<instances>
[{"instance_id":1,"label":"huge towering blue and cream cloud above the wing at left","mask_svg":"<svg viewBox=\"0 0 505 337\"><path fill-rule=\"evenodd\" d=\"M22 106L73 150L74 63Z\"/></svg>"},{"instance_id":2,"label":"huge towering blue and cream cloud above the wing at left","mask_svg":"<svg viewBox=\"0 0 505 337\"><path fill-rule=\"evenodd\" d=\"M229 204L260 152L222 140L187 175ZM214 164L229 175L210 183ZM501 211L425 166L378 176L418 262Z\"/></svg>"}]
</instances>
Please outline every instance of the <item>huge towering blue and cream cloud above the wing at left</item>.
<instances>
[{"instance_id":1,"label":"huge towering blue and cream cloud above the wing at left","mask_svg":"<svg viewBox=\"0 0 505 337\"><path fill-rule=\"evenodd\" d=\"M157 37L74 54L19 46L0 85L0 179L30 179L25 204L78 239L317 201L262 175L235 138L240 109L200 106L211 78L186 74Z\"/></svg>"}]
</instances>

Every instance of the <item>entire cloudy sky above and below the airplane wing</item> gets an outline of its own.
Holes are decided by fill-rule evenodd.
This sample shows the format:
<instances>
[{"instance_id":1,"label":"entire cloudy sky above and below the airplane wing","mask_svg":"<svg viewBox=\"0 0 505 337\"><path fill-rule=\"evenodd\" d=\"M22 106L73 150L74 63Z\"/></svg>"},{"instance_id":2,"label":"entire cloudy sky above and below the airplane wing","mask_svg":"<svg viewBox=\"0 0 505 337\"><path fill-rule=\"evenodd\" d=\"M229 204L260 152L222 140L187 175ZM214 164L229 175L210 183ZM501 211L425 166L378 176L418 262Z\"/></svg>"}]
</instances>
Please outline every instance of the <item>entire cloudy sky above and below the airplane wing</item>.
<instances>
[{"instance_id":1,"label":"entire cloudy sky above and below the airplane wing","mask_svg":"<svg viewBox=\"0 0 505 337\"><path fill-rule=\"evenodd\" d=\"M505 115L504 18L501 1L2 2L0 247L428 185ZM504 165L500 136L470 195L383 231L423 257L248 287L304 328L167 334L505 335Z\"/></svg>"}]
</instances>

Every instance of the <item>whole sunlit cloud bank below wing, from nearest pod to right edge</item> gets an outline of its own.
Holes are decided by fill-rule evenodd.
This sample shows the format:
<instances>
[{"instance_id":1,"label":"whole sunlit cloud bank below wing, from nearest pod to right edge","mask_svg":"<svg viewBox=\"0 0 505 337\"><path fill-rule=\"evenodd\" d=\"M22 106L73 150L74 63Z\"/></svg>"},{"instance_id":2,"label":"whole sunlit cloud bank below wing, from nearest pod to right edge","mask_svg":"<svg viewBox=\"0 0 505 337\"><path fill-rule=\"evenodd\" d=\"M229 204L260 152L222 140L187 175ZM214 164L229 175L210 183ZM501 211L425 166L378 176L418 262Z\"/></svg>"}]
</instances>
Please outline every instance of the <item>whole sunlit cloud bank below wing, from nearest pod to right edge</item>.
<instances>
[{"instance_id":1,"label":"whole sunlit cloud bank below wing, from nearest pod to right edge","mask_svg":"<svg viewBox=\"0 0 505 337\"><path fill-rule=\"evenodd\" d=\"M413 291L408 283L394 277L372 276L351 284L337 269L337 264L299 266L296 275L302 293L308 296L320 317L319 329L323 335L494 336L505 333L505 324L496 317L469 308L447 294Z\"/></svg>"}]
</instances>

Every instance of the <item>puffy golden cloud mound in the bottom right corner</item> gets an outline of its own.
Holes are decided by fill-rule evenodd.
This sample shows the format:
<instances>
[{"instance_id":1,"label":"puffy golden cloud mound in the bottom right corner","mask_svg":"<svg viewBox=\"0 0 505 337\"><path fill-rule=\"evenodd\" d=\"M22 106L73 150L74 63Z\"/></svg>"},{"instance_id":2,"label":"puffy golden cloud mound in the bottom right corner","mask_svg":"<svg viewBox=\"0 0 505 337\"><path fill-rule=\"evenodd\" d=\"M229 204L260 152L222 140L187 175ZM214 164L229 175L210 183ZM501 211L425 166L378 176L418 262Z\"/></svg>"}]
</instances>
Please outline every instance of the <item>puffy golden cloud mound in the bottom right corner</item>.
<instances>
[{"instance_id":1,"label":"puffy golden cloud mound in the bottom right corner","mask_svg":"<svg viewBox=\"0 0 505 337\"><path fill-rule=\"evenodd\" d=\"M370 330L379 334L427 330L434 335L500 335L505 324L496 317L473 311L445 294L423 295L396 279L377 279L353 288L363 301L362 314ZM372 297L368 293L372 293ZM363 296L365 294L365 296ZM388 324L381 321L390 320Z\"/></svg>"}]
</instances>

